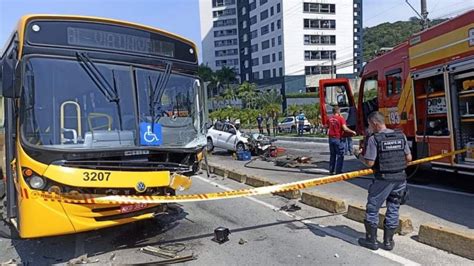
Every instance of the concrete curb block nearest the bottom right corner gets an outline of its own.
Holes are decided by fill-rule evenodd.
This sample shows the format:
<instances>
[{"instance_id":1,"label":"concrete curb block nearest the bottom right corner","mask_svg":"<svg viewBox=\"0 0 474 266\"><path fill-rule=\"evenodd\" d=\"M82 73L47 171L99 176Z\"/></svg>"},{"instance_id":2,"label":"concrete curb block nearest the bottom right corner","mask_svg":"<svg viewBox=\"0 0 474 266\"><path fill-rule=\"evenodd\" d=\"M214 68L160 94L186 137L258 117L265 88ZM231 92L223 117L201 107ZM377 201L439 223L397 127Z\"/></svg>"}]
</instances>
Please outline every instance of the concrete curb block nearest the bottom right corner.
<instances>
[{"instance_id":1,"label":"concrete curb block nearest the bottom right corner","mask_svg":"<svg viewBox=\"0 0 474 266\"><path fill-rule=\"evenodd\" d=\"M434 223L422 224L418 240L424 244L474 260L474 233Z\"/></svg>"}]
</instances>

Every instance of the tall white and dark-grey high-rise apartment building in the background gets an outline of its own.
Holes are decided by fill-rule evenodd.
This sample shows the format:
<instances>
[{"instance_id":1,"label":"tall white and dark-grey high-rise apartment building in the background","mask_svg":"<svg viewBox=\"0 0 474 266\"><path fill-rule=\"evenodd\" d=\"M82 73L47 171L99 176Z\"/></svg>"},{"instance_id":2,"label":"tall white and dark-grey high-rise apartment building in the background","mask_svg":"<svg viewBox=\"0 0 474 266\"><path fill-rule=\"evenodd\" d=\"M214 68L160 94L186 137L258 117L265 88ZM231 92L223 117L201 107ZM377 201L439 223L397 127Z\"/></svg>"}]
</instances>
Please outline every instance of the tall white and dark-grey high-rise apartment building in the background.
<instances>
[{"instance_id":1,"label":"tall white and dark-grey high-rise apartment building in the background","mask_svg":"<svg viewBox=\"0 0 474 266\"><path fill-rule=\"evenodd\" d=\"M362 67L362 0L199 0L203 63L283 95Z\"/></svg>"}]
</instances>

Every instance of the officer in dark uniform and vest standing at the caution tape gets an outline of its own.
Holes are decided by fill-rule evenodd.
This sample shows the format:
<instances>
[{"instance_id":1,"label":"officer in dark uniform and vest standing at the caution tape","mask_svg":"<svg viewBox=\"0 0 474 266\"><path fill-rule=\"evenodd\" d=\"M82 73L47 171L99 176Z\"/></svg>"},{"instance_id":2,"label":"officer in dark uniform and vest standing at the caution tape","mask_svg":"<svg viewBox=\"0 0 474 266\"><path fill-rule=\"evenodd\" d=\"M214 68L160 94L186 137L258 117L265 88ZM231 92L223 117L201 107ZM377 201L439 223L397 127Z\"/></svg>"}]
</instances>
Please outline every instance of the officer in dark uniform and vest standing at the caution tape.
<instances>
[{"instance_id":1,"label":"officer in dark uniform and vest standing at the caution tape","mask_svg":"<svg viewBox=\"0 0 474 266\"><path fill-rule=\"evenodd\" d=\"M364 157L356 151L359 160L374 170L375 179L369 187L365 214L365 238L359 238L363 247L377 250L379 209L387 202L384 221L383 248L392 250L393 235L398 227L400 202L406 193L407 162L412 160L406 136L385 126L384 116L373 112L368 116L369 130L374 134L367 141Z\"/></svg>"}]
</instances>

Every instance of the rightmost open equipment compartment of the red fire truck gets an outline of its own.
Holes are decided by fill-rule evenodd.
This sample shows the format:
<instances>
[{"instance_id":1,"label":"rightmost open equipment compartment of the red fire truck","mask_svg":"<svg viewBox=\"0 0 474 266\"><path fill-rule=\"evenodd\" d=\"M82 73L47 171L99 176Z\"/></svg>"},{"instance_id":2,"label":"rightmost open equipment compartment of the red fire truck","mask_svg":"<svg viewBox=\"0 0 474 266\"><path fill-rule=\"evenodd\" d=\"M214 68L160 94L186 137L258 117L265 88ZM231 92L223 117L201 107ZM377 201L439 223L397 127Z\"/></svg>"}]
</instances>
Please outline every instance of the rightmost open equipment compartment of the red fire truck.
<instances>
[{"instance_id":1,"label":"rightmost open equipment compartment of the red fire truck","mask_svg":"<svg viewBox=\"0 0 474 266\"><path fill-rule=\"evenodd\" d=\"M454 145L456 149L474 147L474 59L447 66L452 99ZM474 167L474 154L456 157L456 163Z\"/></svg>"}]
</instances>

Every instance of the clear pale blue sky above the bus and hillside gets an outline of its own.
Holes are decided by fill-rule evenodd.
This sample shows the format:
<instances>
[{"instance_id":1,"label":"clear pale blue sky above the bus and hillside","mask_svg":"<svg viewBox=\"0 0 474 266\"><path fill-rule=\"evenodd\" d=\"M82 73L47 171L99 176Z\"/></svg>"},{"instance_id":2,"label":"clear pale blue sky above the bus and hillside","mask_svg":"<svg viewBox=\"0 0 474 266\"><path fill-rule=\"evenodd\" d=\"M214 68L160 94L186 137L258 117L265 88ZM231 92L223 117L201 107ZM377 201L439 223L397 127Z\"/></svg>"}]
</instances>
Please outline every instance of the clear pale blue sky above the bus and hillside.
<instances>
[{"instance_id":1,"label":"clear pale blue sky above the bus and hillside","mask_svg":"<svg viewBox=\"0 0 474 266\"><path fill-rule=\"evenodd\" d=\"M419 0L409 2L420 9ZM474 0L427 0L427 6L431 19L450 17L474 9ZM199 0L0 0L0 49L19 18L33 13L100 16L145 24L188 38L201 51ZM405 0L363 0L364 27L413 16L416 13Z\"/></svg>"}]
</instances>

